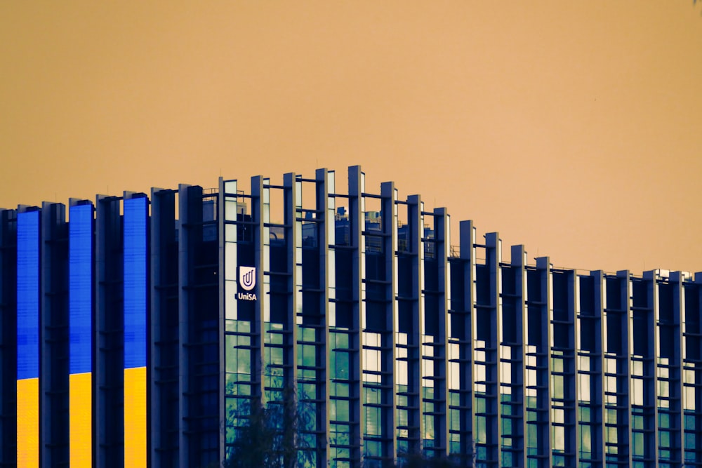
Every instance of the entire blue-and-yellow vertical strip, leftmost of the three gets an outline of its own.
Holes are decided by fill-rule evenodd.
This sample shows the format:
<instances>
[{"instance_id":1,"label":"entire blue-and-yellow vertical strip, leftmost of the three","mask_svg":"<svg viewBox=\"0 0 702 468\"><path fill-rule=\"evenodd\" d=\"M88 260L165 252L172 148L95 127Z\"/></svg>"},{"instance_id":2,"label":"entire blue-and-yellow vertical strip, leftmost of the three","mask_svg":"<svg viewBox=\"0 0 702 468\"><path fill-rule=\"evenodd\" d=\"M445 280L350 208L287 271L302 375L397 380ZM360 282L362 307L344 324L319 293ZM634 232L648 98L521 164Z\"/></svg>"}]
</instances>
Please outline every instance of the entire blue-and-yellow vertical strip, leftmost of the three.
<instances>
[{"instance_id":1,"label":"entire blue-and-yellow vertical strip, leftmost of the three","mask_svg":"<svg viewBox=\"0 0 702 468\"><path fill-rule=\"evenodd\" d=\"M39 467L39 211L17 215L17 464Z\"/></svg>"}]
</instances>

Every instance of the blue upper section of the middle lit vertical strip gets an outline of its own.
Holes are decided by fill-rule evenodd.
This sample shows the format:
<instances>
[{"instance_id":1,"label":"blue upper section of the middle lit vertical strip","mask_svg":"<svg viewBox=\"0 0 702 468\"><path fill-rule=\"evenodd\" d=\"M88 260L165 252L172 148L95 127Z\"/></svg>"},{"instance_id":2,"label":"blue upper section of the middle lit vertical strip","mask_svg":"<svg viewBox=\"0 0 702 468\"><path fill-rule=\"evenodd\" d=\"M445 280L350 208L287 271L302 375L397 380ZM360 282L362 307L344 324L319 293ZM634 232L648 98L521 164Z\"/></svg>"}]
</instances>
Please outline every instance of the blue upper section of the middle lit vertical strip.
<instances>
[{"instance_id":1,"label":"blue upper section of the middle lit vertical strip","mask_svg":"<svg viewBox=\"0 0 702 468\"><path fill-rule=\"evenodd\" d=\"M69 373L91 372L93 312L93 205L70 208L68 223Z\"/></svg>"}]
</instances>

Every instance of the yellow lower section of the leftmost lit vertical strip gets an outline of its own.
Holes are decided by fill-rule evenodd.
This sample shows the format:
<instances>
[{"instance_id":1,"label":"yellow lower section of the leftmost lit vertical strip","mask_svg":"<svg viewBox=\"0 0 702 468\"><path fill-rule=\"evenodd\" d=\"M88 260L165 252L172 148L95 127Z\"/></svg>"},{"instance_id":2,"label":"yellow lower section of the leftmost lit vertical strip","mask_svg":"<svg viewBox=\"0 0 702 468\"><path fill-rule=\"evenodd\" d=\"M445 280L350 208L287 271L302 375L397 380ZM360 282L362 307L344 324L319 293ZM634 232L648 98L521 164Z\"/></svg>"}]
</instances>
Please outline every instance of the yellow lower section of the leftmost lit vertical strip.
<instances>
[{"instance_id":1,"label":"yellow lower section of the leftmost lit vertical strip","mask_svg":"<svg viewBox=\"0 0 702 468\"><path fill-rule=\"evenodd\" d=\"M39 379L17 381L17 466L39 467Z\"/></svg>"}]
</instances>

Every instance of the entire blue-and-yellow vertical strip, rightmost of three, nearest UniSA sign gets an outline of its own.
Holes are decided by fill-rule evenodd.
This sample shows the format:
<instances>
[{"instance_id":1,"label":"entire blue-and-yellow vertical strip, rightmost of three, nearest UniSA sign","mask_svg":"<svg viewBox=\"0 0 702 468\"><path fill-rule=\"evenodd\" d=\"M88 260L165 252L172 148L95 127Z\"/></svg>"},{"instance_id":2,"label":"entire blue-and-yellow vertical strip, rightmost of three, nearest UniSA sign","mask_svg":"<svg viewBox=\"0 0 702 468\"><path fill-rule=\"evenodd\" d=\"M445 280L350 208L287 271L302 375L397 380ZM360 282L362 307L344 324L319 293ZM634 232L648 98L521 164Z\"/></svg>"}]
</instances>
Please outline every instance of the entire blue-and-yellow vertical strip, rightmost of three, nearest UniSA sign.
<instances>
[{"instance_id":1,"label":"entire blue-and-yellow vertical strip, rightmost of three, nearest UniSA sign","mask_svg":"<svg viewBox=\"0 0 702 468\"><path fill-rule=\"evenodd\" d=\"M146 466L148 301L145 197L124 200L124 466Z\"/></svg>"}]
</instances>

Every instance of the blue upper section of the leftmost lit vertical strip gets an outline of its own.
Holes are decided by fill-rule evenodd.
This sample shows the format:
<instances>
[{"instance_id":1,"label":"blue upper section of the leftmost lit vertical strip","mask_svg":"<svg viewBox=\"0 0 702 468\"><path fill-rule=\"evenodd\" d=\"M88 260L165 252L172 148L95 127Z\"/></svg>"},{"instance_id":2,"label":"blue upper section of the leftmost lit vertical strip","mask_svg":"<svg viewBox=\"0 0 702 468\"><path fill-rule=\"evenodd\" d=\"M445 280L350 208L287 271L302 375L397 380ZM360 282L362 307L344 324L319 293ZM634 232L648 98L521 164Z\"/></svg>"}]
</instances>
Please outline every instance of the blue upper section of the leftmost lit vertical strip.
<instances>
[{"instance_id":1,"label":"blue upper section of the leftmost lit vertical strip","mask_svg":"<svg viewBox=\"0 0 702 468\"><path fill-rule=\"evenodd\" d=\"M17 379L39 377L39 216L17 215Z\"/></svg>"}]
</instances>

